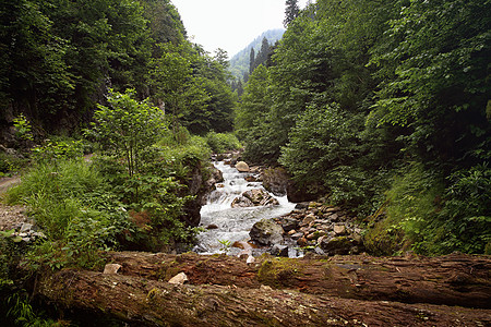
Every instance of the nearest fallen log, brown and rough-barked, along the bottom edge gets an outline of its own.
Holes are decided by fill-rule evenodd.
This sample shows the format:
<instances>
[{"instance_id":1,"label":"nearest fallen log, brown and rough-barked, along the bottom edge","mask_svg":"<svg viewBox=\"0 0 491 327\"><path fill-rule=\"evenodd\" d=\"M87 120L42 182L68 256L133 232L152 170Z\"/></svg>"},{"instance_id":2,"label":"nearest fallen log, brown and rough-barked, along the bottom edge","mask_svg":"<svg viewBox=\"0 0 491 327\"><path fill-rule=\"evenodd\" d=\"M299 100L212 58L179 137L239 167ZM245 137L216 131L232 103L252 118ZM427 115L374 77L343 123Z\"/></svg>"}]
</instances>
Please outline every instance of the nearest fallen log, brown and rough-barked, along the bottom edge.
<instances>
[{"instance_id":1,"label":"nearest fallen log, brown and rough-barked, along the bottom edge","mask_svg":"<svg viewBox=\"0 0 491 327\"><path fill-rule=\"evenodd\" d=\"M176 286L135 276L63 270L38 294L67 311L131 326L489 326L491 311L335 299L270 287ZM93 322L94 326L97 326Z\"/></svg>"}]
</instances>

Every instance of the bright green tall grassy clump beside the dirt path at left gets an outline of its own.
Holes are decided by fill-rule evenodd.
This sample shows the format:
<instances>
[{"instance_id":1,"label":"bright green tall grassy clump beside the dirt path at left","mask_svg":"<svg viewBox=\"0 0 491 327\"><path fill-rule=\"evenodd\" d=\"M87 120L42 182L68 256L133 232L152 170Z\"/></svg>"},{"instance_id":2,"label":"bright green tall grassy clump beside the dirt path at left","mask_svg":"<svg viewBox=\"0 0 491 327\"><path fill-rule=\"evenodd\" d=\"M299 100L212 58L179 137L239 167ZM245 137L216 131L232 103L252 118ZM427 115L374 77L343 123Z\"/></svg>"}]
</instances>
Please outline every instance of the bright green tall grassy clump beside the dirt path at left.
<instances>
[{"instance_id":1,"label":"bright green tall grassy clump beside the dirt path at left","mask_svg":"<svg viewBox=\"0 0 491 327\"><path fill-rule=\"evenodd\" d=\"M52 268L93 266L98 252L117 245L131 229L128 215L107 181L83 160L58 160L35 166L8 193L11 203L24 203L48 241L32 253L34 262Z\"/></svg>"}]
</instances>

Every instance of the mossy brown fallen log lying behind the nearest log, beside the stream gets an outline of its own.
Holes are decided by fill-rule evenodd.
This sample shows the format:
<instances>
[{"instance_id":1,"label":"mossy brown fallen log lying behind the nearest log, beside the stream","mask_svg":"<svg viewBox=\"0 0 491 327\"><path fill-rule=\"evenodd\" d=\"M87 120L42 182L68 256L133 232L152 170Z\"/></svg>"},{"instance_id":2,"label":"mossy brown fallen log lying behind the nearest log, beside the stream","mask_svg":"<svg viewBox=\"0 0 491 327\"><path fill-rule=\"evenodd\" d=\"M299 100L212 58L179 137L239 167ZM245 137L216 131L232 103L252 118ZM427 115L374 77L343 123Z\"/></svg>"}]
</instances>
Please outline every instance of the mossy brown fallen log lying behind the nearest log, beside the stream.
<instances>
[{"instance_id":1,"label":"mossy brown fallen log lying behind the nearest log, beside the stream","mask_svg":"<svg viewBox=\"0 0 491 327\"><path fill-rule=\"evenodd\" d=\"M110 253L121 274L168 281L185 272L191 284L292 289L345 299L491 308L491 257L263 256L254 264L225 255Z\"/></svg>"}]
</instances>

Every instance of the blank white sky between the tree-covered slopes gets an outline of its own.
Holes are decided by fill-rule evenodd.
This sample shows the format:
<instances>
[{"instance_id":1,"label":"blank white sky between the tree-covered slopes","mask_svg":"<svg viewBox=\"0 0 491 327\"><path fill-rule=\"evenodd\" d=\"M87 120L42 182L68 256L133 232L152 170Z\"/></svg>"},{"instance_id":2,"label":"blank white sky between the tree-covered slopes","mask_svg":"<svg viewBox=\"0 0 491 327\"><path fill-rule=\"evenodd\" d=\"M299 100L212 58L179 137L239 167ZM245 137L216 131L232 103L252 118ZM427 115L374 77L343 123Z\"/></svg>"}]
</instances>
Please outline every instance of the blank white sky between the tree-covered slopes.
<instances>
[{"instance_id":1,"label":"blank white sky between the tree-covered slopes","mask_svg":"<svg viewBox=\"0 0 491 327\"><path fill-rule=\"evenodd\" d=\"M299 0L304 8L308 0ZM192 43L228 57L246 48L263 32L283 28L286 0L171 0Z\"/></svg>"}]
</instances>

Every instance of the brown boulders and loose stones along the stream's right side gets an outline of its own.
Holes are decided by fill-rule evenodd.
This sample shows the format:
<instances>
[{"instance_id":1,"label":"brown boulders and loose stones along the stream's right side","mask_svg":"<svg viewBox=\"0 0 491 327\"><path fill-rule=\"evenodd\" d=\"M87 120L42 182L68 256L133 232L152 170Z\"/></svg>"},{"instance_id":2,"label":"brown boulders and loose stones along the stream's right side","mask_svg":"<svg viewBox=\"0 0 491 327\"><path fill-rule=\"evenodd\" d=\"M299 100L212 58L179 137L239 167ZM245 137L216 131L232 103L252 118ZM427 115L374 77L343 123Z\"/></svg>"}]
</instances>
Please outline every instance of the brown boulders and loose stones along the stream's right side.
<instances>
[{"instance_id":1,"label":"brown boulders and loose stones along the stream's right side","mask_svg":"<svg viewBox=\"0 0 491 327\"><path fill-rule=\"evenodd\" d=\"M239 171L249 172L244 174L247 181L265 182L275 195L285 195L291 184L282 169L250 167L237 154L220 159ZM246 192L232 202L232 207L267 205L275 205L274 198L262 190ZM364 252L362 234L363 229L348 213L319 202L298 203L287 215L256 222L249 233L252 243L277 256L291 255L291 247L321 255L359 254Z\"/></svg>"}]
</instances>

